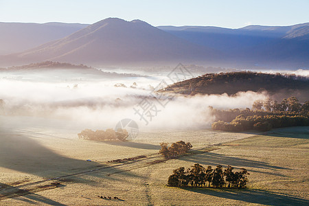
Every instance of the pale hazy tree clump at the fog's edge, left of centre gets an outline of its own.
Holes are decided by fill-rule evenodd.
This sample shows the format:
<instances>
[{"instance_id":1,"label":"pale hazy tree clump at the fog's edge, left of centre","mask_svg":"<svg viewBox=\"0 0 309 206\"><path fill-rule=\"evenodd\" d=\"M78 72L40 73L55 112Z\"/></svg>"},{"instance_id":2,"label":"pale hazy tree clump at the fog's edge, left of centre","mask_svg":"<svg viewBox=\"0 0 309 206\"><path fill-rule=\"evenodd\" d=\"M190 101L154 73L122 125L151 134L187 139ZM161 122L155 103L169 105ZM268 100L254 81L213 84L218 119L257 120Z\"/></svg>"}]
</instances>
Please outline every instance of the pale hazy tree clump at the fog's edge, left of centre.
<instances>
[{"instance_id":1,"label":"pale hazy tree clump at the fog's edge, left of centre","mask_svg":"<svg viewBox=\"0 0 309 206\"><path fill-rule=\"evenodd\" d=\"M95 141L120 140L125 141L128 137L128 132L125 129L119 128L117 131L112 128L104 130L89 130L85 129L78 133L80 139L90 139Z\"/></svg>"}]
</instances>

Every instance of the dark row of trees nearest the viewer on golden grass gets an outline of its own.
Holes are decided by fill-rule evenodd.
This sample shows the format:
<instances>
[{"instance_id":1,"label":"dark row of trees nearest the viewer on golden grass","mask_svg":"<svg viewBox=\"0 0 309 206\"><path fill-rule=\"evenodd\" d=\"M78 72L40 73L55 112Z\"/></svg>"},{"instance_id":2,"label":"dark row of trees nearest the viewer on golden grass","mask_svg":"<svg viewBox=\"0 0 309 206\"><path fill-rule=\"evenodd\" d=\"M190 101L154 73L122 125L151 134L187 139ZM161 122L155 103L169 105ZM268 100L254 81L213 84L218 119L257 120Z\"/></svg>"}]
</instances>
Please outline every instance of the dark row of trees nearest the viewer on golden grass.
<instances>
[{"instance_id":1,"label":"dark row of trees nearest the viewer on golden grass","mask_svg":"<svg viewBox=\"0 0 309 206\"><path fill-rule=\"evenodd\" d=\"M215 169L211 166L204 168L203 165L196 163L191 166L191 169L173 170L173 174L168 178L168 185L173 187L246 187L248 171L241 168L239 172L233 172L233 169L227 166L223 171L222 165L217 165Z\"/></svg>"}]
</instances>

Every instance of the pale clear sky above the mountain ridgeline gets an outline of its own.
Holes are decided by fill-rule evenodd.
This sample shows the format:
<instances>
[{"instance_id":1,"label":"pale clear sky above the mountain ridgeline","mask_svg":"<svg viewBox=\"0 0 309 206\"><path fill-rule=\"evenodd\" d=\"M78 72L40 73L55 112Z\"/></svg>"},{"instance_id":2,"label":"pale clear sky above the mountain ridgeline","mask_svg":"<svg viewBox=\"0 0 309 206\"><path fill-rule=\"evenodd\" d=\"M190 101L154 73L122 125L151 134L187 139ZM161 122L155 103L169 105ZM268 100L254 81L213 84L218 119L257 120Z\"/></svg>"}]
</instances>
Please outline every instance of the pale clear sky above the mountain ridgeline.
<instances>
[{"instance_id":1,"label":"pale clear sky above the mountain ridgeline","mask_svg":"<svg viewBox=\"0 0 309 206\"><path fill-rule=\"evenodd\" d=\"M151 25L293 25L309 21L309 0L0 0L1 22L95 23L108 17Z\"/></svg>"}]
</instances>

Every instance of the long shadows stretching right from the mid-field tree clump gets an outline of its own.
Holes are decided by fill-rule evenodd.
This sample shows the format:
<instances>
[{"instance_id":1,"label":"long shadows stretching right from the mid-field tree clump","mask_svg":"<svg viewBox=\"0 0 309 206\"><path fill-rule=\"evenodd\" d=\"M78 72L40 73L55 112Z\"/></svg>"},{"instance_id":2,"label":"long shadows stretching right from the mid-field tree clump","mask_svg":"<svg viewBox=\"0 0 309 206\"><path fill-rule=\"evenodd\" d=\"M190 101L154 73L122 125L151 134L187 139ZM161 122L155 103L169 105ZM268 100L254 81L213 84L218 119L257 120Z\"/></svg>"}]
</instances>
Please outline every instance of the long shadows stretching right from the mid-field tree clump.
<instances>
[{"instance_id":1,"label":"long shadows stretching right from the mid-field tree clump","mask_svg":"<svg viewBox=\"0 0 309 206\"><path fill-rule=\"evenodd\" d=\"M250 168L263 168L263 169L288 169L278 166L269 165L263 161L253 161L249 159L242 159L239 157L228 157L226 155L220 155L212 152L205 152L201 155L185 156L181 157L181 160L192 161L194 163L200 163L204 165L233 165L235 167L250 167ZM289 169L288 169L289 170Z\"/></svg>"}]
</instances>

